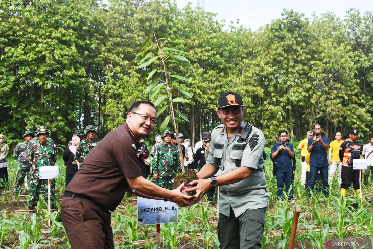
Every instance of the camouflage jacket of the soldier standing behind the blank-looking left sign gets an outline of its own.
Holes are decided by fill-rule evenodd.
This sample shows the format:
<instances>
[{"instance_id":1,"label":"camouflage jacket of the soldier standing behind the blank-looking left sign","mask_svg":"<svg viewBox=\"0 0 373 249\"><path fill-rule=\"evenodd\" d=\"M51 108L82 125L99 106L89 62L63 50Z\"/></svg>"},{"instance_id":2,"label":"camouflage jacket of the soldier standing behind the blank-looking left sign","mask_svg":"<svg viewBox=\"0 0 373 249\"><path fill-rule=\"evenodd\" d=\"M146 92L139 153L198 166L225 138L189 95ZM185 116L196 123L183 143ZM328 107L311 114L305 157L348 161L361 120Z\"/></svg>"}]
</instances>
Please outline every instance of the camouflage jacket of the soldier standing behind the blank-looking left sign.
<instances>
[{"instance_id":1,"label":"camouflage jacket of the soldier standing behind the blank-looking left sign","mask_svg":"<svg viewBox=\"0 0 373 249\"><path fill-rule=\"evenodd\" d=\"M53 139L48 138L45 144L40 144L38 139L32 139L27 146L29 163L32 173L35 174L42 166L53 166L57 160L57 145Z\"/></svg>"}]
</instances>

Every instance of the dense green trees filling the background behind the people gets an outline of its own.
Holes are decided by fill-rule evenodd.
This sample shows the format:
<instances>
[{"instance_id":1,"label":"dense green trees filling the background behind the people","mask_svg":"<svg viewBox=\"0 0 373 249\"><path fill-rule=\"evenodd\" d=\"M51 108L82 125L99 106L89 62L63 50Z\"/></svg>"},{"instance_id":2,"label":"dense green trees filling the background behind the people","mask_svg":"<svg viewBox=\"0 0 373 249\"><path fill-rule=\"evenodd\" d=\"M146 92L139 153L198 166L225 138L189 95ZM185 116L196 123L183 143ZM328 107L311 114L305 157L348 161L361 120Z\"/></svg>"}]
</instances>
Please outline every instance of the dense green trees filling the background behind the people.
<instances>
[{"instance_id":1,"label":"dense green trees filling the background behind the people","mask_svg":"<svg viewBox=\"0 0 373 249\"><path fill-rule=\"evenodd\" d=\"M76 128L99 126L99 137L147 99L138 69L142 42L167 34L191 66L173 65L192 95L176 105L192 140L218 122L217 99L239 92L246 121L268 144L288 129L300 139L321 123L330 137L352 126L373 129L373 11L306 18L292 10L256 31L224 28L215 14L171 0L10 0L0 2L0 132L8 143L26 128L47 125L57 143ZM167 117L159 116L159 123ZM170 126L171 127L171 126ZM159 125L150 135L159 132Z\"/></svg>"}]
</instances>

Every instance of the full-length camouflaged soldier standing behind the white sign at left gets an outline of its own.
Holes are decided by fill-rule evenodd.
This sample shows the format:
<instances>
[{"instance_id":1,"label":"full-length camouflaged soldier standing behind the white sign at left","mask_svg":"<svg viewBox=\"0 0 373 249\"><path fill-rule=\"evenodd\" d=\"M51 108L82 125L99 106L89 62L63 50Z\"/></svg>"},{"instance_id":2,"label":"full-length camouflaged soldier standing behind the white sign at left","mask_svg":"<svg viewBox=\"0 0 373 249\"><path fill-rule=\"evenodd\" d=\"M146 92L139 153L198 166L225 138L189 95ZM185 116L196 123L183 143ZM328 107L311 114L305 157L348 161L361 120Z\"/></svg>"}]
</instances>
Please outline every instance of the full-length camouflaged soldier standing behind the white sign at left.
<instances>
[{"instance_id":1,"label":"full-length camouflaged soldier standing behind the white sign at left","mask_svg":"<svg viewBox=\"0 0 373 249\"><path fill-rule=\"evenodd\" d=\"M40 193L44 200L48 197L48 180L39 179L39 168L53 166L57 159L57 146L48 138L49 130L40 126L36 131L37 138L31 139L27 147L29 163L32 164L30 179L29 210L33 212ZM51 180L51 204L54 206L54 179Z\"/></svg>"}]
</instances>

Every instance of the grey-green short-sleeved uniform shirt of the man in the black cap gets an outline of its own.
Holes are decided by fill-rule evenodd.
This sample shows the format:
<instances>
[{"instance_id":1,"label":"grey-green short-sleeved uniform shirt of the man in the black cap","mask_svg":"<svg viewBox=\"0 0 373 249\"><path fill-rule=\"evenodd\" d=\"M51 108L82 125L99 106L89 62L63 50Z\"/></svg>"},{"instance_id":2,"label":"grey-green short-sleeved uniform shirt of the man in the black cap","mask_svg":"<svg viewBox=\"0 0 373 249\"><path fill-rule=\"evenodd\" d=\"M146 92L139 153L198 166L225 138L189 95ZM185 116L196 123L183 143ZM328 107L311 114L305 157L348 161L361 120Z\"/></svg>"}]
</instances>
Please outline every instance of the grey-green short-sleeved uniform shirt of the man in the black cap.
<instances>
[{"instance_id":1,"label":"grey-green short-sleeved uniform shirt of the man in the black cap","mask_svg":"<svg viewBox=\"0 0 373 249\"><path fill-rule=\"evenodd\" d=\"M265 138L262 131L252 126L248 138L240 139L245 125L245 122L241 122L236 134L229 141L223 124L211 133L207 164L220 169L222 174L241 166L252 169L249 177L220 187L219 212L228 217L230 207L238 217L247 209L267 207L269 200L263 159Z\"/></svg>"}]
</instances>

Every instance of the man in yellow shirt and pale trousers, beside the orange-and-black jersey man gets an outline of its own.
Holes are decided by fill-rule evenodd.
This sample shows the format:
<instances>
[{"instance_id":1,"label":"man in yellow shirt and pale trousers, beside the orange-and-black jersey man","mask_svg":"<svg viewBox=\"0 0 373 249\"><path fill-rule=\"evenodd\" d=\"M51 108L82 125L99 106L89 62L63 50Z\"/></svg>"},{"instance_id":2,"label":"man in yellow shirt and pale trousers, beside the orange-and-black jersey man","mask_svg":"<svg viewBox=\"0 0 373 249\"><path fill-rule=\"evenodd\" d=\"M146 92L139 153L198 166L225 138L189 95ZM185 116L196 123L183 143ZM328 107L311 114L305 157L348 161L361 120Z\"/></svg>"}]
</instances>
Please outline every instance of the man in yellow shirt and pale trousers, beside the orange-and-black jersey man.
<instances>
[{"instance_id":1,"label":"man in yellow shirt and pale trousers, beside the orange-and-black jersey man","mask_svg":"<svg viewBox=\"0 0 373 249\"><path fill-rule=\"evenodd\" d=\"M335 133L335 140L333 140L329 145L329 178L328 183L329 185L332 184L334 174L337 171L338 168L338 183L339 185L342 183L341 173L342 173L342 162L339 159L339 148L341 147L341 144L343 143L342 140L342 134L341 132Z\"/></svg>"}]
</instances>

